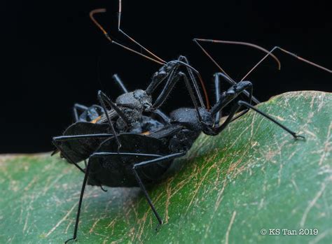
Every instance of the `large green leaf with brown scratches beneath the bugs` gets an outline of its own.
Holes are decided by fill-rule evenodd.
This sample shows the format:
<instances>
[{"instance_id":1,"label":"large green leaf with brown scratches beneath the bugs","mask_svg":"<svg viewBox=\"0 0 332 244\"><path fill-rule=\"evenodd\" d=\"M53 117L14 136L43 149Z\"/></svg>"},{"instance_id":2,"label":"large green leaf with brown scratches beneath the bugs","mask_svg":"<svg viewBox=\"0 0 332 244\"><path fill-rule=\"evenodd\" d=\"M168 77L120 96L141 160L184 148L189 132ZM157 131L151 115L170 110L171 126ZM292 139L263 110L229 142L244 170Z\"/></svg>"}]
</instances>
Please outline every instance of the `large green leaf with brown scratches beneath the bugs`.
<instances>
[{"instance_id":1,"label":"large green leaf with brown scratches beneath the bugs","mask_svg":"<svg viewBox=\"0 0 332 244\"><path fill-rule=\"evenodd\" d=\"M88 186L77 243L331 243L332 95L289 92L258 107L306 141L250 112L219 136L200 136L148 189L165 222L158 232L139 189ZM58 157L1 157L0 243L71 238L82 181Z\"/></svg>"}]
</instances>

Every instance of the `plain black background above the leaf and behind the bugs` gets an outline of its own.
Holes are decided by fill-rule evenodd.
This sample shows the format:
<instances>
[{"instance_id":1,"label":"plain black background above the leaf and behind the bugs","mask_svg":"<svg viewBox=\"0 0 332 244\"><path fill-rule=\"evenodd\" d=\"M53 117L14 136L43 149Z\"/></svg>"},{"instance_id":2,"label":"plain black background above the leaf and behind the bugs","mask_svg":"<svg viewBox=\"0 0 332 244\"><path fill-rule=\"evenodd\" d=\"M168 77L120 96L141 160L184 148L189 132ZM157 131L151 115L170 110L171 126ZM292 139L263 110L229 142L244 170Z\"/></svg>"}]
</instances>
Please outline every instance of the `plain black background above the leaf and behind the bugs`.
<instances>
[{"instance_id":1,"label":"plain black background above the leaf and behind the bugs","mask_svg":"<svg viewBox=\"0 0 332 244\"><path fill-rule=\"evenodd\" d=\"M159 65L110 45L89 20L93 8L108 9L99 22L121 43L116 32L118 2L2 1L0 152L42 152L53 148L73 122L75 102L96 103L102 89L119 94L111 76L118 73L129 89L146 88ZM331 8L327 1L129 1L123 0L122 27L166 60L186 55L200 70L213 101L209 62L193 38L275 45L331 69ZM241 46L205 47L234 79L244 76L264 54ZM261 101L282 92L332 91L331 74L275 52L282 70L268 59L249 80ZM190 106L182 85L165 110Z\"/></svg>"}]
</instances>

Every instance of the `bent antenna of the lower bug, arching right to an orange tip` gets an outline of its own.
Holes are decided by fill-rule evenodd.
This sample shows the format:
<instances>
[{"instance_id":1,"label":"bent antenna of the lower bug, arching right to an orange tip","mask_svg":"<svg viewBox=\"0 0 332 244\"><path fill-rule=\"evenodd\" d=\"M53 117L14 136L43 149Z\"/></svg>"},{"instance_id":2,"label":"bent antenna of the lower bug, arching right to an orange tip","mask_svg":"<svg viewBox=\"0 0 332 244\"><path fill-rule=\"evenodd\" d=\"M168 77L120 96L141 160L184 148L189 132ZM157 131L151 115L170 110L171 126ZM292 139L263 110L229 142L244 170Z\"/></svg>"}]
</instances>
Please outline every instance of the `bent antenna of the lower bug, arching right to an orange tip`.
<instances>
[{"instance_id":1,"label":"bent antenna of the lower bug, arching right to an orange tip","mask_svg":"<svg viewBox=\"0 0 332 244\"><path fill-rule=\"evenodd\" d=\"M280 69L281 64L279 62L279 59L277 59L277 57L275 57L275 55L272 55L271 52L269 52L268 50L266 50L265 48L262 48L259 45L253 44L253 43L245 43L242 41L221 41L221 40L211 40L211 39L199 39L199 38L195 38L194 39L195 43L202 49L203 52L205 52L205 55L207 55L207 57L209 57L209 59L212 60L212 62L214 62L214 64L216 64L216 66L223 72L226 74L226 76L228 76L228 74L221 68L221 66L216 62L216 60L214 60L214 58L209 55L209 53L207 52L207 50L205 50L205 48L202 47L202 45L200 45L200 43L198 43L198 41L202 41L202 42L209 42L209 43L223 43L223 44L233 44L233 45L247 45L251 48L256 48L258 50L261 50L263 52L266 52L267 55L265 57L268 57L269 55L275 59L275 61L278 64L278 69ZM264 57L264 58L265 58ZM256 67L255 67L256 68ZM228 76L228 78L230 78L230 76ZM230 78L231 79L231 78Z\"/></svg>"}]
</instances>

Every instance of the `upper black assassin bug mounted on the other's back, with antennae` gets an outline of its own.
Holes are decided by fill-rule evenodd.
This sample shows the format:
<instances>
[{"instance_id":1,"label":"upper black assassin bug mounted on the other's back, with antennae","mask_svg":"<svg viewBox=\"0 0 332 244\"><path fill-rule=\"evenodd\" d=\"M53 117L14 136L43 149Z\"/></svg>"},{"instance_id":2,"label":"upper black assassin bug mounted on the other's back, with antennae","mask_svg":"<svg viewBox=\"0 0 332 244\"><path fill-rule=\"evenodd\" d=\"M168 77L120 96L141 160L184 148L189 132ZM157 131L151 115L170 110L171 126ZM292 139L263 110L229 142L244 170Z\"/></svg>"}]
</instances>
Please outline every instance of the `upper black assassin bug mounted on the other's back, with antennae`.
<instances>
[{"instance_id":1,"label":"upper black assassin bug mounted on the other's back, with antennae","mask_svg":"<svg viewBox=\"0 0 332 244\"><path fill-rule=\"evenodd\" d=\"M76 123L68 127L66 131L64 131L63 136L57 136L53 138L53 143L57 147L55 152L59 150L62 157L65 157L69 163L74 164L83 173L83 168L78 166L77 162L81 162L88 158L88 156L97 149L99 143L104 141L104 138L112 135L116 136L116 134L120 132L142 133L144 132L142 129L145 129L145 131L151 131L153 128L157 129L160 127L160 121L165 124L169 118L160 110L158 110L158 108L162 106L162 103L165 102L167 96L170 94L174 88L174 85L179 82L179 80L185 81L188 92L191 95L191 99L193 103L195 103L195 108L198 108L197 101L195 101L196 94L200 101L200 106L202 108L209 109L209 99L204 82L202 81L200 73L188 63L188 59L186 59L186 57L180 56L177 60L165 62L164 60L160 59L160 57L154 55L151 51L144 48L141 44L137 43L137 41L135 41L133 38L125 34L125 32L120 29L121 1L119 1L118 30L131 41L139 45L139 47L146 50L146 52L151 54L153 57L148 57L141 54L140 52L132 50L131 48L127 48L125 45L113 41L109 34L95 20L94 17L96 13L104 13L105 11L105 9L92 10L90 12L90 18L92 22L94 22L97 27L103 31L104 35L109 41L111 41L111 43L151 59L158 64L162 64L162 67L159 69L159 71L153 74L151 83L148 85L145 91L137 89L134 92L128 92L120 78L118 78L118 76L113 76L124 92L122 95L118 96L116 103L113 103L104 93L98 92L98 100L101 106L93 105L89 108L82 106L81 104L76 104L74 106ZM268 53L268 50L265 50L264 48L261 48L257 45L250 43L246 43L246 45L252 45L255 48ZM271 56L279 63L277 57L274 55ZM184 67L184 71L188 73L189 78L187 77L186 73L181 71L181 66ZM203 102L202 95L200 94L200 89L198 87L198 82L195 78L195 75L198 76L203 92L205 94L206 106ZM162 91L160 92L157 99L155 99L154 103L152 104L151 94L155 91L155 88L158 87L158 85L160 85L164 80L166 80L166 84L162 88ZM189 80L191 82L189 82ZM236 84L236 82L230 78L227 79L227 81L232 85ZM195 94L191 86L194 87ZM249 92L247 92L247 90L244 90L243 93L246 96L249 96ZM255 103L259 103L259 101L254 96L251 97ZM106 104L112 109L107 110L107 113L104 113L102 108L106 110ZM83 113L78 115L78 110L82 110ZM157 115L159 119L154 120L152 117L145 117L142 115L143 112L152 112ZM115 126L113 126L113 122L111 121L113 119L116 120L114 123ZM105 124L107 122L109 126ZM147 128L146 124L148 124L150 128ZM118 147L120 148L120 141L118 141L117 136L116 141Z\"/></svg>"}]
</instances>

